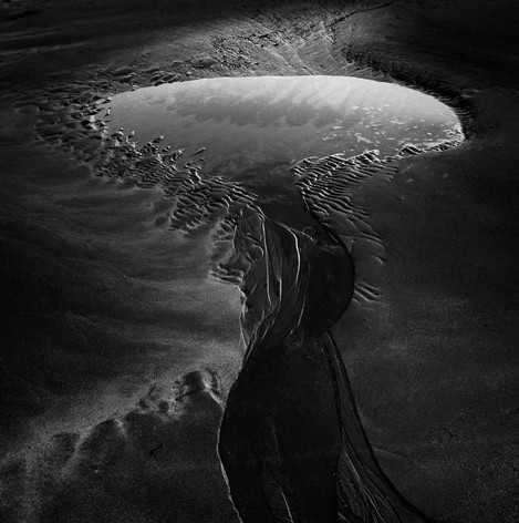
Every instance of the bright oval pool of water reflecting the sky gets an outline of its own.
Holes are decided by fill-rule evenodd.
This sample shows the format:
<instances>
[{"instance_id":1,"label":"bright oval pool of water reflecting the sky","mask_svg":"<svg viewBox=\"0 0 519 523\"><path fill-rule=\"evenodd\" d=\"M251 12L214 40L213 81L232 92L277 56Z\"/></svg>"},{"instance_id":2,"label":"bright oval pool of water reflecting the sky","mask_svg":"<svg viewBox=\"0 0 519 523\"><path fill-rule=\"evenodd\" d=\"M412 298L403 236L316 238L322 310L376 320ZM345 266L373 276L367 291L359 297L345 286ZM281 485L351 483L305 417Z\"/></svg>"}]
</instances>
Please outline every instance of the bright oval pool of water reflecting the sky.
<instances>
[{"instance_id":1,"label":"bright oval pool of water reflecting the sky","mask_svg":"<svg viewBox=\"0 0 519 523\"><path fill-rule=\"evenodd\" d=\"M142 143L201 147L221 174L309 155L394 154L405 144L435 145L459 130L433 96L394 84L343 76L197 80L117 94L110 126ZM217 167L217 168L216 168Z\"/></svg>"}]
</instances>

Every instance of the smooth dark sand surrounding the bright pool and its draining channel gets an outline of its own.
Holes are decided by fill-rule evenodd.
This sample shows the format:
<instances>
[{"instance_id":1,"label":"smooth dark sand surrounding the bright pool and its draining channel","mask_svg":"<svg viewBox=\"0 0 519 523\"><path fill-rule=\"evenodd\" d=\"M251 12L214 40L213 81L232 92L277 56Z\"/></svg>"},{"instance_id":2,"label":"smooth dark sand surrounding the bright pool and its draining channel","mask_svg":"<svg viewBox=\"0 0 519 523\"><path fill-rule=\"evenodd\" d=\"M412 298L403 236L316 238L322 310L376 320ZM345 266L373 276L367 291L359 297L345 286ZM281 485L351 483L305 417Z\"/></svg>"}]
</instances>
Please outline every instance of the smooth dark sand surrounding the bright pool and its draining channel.
<instances>
[{"instance_id":1,"label":"smooth dark sand surrounding the bright pool and its draining channel","mask_svg":"<svg viewBox=\"0 0 519 523\"><path fill-rule=\"evenodd\" d=\"M239 291L204 277L229 230L186 243L158 191L90 178L93 94L353 74L440 96L469 136L362 185L384 263L334 337L363 425L429 517L516 521L518 21L482 0L3 2L1 517L236 521L216 431ZM82 114L56 148L63 101Z\"/></svg>"}]
</instances>

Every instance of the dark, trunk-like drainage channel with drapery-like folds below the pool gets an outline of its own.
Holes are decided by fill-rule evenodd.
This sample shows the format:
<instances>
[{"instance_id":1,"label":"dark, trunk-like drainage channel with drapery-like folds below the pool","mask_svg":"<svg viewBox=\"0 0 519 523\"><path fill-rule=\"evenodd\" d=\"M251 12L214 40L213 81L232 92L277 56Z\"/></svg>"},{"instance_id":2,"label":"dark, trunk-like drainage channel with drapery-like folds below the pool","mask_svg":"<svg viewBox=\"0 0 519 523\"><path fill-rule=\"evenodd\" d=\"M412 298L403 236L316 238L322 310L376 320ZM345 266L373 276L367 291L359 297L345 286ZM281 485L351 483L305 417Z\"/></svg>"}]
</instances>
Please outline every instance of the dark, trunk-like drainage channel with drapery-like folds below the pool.
<instances>
[{"instance_id":1,"label":"dark, trunk-like drainage channel with drapery-like folds below the pool","mask_svg":"<svg viewBox=\"0 0 519 523\"><path fill-rule=\"evenodd\" d=\"M260 205L226 268L243 273L247 353L219 455L241 520L425 521L376 463L330 334L353 295L346 247L307 211Z\"/></svg>"}]
</instances>

